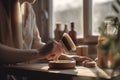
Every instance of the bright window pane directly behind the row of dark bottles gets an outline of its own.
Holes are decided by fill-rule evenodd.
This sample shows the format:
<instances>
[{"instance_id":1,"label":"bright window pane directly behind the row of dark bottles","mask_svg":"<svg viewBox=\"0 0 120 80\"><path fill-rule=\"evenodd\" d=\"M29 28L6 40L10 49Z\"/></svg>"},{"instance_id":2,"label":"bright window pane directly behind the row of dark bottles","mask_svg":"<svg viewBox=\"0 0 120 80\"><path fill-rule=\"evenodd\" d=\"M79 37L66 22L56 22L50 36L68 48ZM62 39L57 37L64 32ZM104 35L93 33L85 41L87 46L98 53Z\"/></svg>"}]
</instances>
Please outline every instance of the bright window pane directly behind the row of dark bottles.
<instances>
[{"instance_id":1,"label":"bright window pane directly behind the row of dark bottles","mask_svg":"<svg viewBox=\"0 0 120 80\"><path fill-rule=\"evenodd\" d=\"M53 0L54 27L57 22L67 24L70 30L70 23L75 22L77 37L83 37L83 0Z\"/></svg>"}]
</instances>

